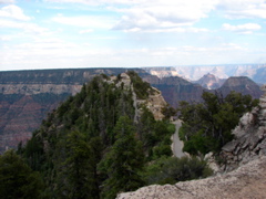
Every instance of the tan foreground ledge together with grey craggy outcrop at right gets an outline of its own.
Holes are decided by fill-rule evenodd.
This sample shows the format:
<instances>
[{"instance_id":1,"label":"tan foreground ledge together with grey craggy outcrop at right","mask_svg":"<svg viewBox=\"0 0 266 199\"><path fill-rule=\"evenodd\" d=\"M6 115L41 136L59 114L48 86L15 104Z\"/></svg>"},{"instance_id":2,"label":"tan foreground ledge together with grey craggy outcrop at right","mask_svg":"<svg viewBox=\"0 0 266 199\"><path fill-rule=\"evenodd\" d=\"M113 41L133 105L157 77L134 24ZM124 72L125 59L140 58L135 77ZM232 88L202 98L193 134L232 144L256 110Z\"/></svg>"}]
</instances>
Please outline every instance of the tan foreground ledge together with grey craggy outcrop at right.
<instances>
[{"instance_id":1,"label":"tan foreground ledge together with grey craggy outcrop at right","mask_svg":"<svg viewBox=\"0 0 266 199\"><path fill-rule=\"evenodd\" d=\"M223 174L175 185L143 187L120 193L117 199L266 198L266 85L262 90L265 94L259 107L243 116L233 132L236 138L223 147Z\"/></svg>"}]
</instances>

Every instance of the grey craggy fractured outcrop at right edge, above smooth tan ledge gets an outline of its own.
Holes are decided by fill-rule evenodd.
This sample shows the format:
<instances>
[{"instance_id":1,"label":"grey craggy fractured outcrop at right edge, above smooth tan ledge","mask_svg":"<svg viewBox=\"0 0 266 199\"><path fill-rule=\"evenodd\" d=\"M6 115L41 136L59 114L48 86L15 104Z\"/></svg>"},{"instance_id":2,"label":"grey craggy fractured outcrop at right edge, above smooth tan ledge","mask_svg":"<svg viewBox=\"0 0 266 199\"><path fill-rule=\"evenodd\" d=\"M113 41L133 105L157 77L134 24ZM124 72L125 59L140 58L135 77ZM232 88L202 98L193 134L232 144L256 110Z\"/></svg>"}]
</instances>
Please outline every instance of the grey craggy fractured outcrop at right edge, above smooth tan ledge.
<instances>
[{"instance_id":1,"label":"grey craggy fractured outcrop at right edge, above smooth tan ledge","mask_svg":"<svg viewBox=\"0 0 266 199\"><path fill-rule=\"evenodd\" d=\"M233 130L235 139L222 148L224 170L233 170L266 155L266 85L262 90L265 94L259 100L259 107L241 118L239 125Z\"/></svg>"}]
</instances>

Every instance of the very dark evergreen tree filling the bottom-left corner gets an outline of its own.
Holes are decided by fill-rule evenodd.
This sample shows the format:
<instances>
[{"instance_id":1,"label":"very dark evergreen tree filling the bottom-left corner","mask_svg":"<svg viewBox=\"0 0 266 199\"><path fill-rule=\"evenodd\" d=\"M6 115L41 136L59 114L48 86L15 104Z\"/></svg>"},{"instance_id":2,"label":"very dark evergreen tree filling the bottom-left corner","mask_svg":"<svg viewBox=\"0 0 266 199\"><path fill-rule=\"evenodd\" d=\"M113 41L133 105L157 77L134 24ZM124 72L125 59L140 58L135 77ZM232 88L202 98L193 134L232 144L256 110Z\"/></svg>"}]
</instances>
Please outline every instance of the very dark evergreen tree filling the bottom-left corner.
<instances>
[{"instance_id":1,"label":"very dark evergreen tree filling the bottom-left corner","mask_svg":"<svg viewBox=\"0 0 266 199\"><path fill-rule=\"evenodd\" d=\"M32 171L14 150L0 156L0 198L42 198L42 189L39 172Z\"/></svg>"}]
</instances>

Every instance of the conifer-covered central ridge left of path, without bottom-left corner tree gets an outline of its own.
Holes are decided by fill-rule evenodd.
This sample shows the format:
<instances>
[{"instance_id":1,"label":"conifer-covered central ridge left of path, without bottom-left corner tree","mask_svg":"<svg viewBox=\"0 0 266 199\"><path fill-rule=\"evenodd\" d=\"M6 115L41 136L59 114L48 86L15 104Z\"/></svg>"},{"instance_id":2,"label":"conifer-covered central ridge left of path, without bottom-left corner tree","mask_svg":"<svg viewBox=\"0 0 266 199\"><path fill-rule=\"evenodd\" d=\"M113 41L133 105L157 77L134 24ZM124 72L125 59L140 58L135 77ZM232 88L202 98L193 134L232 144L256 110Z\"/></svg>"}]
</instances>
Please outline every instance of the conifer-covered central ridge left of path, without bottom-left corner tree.
<instances>
[{"instance_id":1,"label":"conifer-covered central ridge left of path, without bottom-left corner tree","mask_svg":"<svg viewBox=\"0 0 266 199\"><path fill-rule=\"evenodd\" d=\"M137 98L153 92L136 73L129 75ZM116 83L106 75L94 77L50 113L25 146L19 146L18 154L43 179L42 196L115 198L150 184L206 176L204 161L172 158L175 126L168 117L174 111L165 107L165 119L155 121L143 105L134 121L133 93Z\"/></svg>"}]
</instances>

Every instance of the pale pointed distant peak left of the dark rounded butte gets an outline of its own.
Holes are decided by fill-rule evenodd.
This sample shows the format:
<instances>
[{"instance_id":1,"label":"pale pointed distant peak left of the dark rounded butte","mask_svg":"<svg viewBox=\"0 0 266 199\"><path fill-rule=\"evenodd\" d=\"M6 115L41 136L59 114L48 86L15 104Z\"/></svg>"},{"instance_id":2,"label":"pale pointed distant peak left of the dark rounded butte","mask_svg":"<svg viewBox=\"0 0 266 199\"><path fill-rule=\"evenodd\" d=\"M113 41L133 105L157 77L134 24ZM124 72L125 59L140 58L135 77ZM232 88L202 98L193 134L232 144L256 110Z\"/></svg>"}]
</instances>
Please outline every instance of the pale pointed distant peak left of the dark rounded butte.
<instances>
[{"instance_id":1,"label":"pale pointed distant peak left of the dark rounded butte","mask_svg":"<svg viewBox=\"0 0 266 199\"><path fill-rule=\"evenodd\" d=\"M208 73L201 77L198 81L194 81L193 83L200 84L207 90L216 90L219 88L224 82L224 78L218 78L215 75Z\"/></svg>"}]
</instances>

